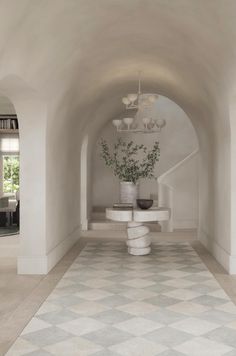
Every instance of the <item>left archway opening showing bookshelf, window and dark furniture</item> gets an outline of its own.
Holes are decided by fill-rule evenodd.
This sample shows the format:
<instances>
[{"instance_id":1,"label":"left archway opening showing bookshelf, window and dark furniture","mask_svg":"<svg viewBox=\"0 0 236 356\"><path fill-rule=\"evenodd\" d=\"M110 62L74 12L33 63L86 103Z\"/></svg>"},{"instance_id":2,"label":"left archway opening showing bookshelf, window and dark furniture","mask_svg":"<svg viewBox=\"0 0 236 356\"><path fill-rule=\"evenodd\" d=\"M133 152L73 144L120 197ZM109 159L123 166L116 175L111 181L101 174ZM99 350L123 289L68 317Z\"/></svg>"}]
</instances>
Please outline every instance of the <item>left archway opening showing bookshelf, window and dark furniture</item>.
<instances>
[{"instance_id":1,"label":"left archway opening showing bookshelf, window and dark furniture","mask_svg":"<svg viewBox=\"0 0 236 356\"><path fill-rule=\"evenodd\" d=\"M20 144L14 105L0 97L0 236L19 234Z\"/></svg>"}]
</instances>

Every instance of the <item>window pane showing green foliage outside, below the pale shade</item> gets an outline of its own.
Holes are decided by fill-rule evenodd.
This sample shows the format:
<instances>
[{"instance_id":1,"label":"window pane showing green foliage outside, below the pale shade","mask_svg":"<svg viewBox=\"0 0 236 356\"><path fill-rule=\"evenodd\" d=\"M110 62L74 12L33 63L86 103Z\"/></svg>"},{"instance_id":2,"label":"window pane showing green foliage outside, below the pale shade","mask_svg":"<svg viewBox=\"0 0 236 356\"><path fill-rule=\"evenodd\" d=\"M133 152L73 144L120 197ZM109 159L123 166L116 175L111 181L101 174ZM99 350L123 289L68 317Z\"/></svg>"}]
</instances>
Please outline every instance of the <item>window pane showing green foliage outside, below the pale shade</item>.
<instances>
[{"instance_id":1,"label":"window pane showing green foliage outside, below the pale shade","mask_svg":"<svg viewBox=\"0 0 236 356\"><path fill-rule=\"evenodd\" d=\"M3 193L15 193L19 190L19 155L3 156Z\"/></svg>"}]
</instances>

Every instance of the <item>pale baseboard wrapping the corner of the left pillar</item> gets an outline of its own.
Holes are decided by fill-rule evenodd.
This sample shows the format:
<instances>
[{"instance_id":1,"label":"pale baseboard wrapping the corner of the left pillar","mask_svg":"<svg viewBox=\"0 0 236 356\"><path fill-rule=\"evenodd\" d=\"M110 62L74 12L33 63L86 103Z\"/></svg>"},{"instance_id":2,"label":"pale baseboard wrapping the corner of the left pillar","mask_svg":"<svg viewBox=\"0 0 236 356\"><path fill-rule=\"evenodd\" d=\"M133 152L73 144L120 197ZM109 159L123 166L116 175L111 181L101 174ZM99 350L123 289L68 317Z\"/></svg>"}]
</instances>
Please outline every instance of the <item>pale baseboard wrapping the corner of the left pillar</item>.
<instances>
[{"instance_id":1,"label":"pale baseboard wrapping the corner of the left pillar","mask_svg":"<svg viewBox=\"0 0 236 356\"><path fill-rule=\"evenodd\" d=\"M18 274L47 274L71 249L80 237L80 227L61 241L46 256L18 256Z\"/></svg>"}]
</instances>

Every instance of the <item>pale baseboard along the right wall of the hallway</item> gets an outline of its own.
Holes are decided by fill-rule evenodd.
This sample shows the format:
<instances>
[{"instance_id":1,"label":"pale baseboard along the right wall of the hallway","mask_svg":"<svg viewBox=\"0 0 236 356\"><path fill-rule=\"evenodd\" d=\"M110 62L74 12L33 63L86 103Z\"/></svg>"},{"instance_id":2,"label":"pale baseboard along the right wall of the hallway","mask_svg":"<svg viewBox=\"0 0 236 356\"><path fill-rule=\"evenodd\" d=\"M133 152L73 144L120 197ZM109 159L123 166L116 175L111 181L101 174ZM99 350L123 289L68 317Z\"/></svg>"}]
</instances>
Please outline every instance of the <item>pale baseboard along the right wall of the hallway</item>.
<instances>
[{"instance_id":1,"label":"pale baseboard along the right wall of the hallway","mask_svg":"<svg viewBox=\"0 0 236 356\"><path fill-rule=\"evenodd\" d=\"M236 274L236 256L230 255L203 230L199 233L199 240L229 274Z\"/></svg>"}]
</instances>

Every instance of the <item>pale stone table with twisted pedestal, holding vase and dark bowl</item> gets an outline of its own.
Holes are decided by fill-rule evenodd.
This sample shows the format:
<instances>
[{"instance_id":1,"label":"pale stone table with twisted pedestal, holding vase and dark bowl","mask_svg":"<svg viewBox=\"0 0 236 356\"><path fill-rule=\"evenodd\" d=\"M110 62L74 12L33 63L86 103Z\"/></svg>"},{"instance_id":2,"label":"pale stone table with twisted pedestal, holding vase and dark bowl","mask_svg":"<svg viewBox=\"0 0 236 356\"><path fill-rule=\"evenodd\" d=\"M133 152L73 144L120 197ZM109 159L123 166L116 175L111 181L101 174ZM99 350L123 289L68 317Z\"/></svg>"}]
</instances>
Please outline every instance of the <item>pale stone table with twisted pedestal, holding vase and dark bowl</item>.
<instances>
[{"instance_id":1,"label":"pale stone table with twisted pedestal, holding vase and dark bowl","mask_svg":"<svg viewBox=\"0 0 236 356\"><path fill-rule=\"evenodd\" d=\"M127 246L131 255L143 256L151 252L150 229L145 222L166 221L170 218L168 208L151 208L148 210L106 209L106 218L113 221L127 222Z\"/></svg>"}]
</instances>

